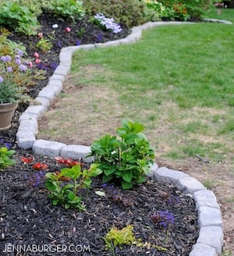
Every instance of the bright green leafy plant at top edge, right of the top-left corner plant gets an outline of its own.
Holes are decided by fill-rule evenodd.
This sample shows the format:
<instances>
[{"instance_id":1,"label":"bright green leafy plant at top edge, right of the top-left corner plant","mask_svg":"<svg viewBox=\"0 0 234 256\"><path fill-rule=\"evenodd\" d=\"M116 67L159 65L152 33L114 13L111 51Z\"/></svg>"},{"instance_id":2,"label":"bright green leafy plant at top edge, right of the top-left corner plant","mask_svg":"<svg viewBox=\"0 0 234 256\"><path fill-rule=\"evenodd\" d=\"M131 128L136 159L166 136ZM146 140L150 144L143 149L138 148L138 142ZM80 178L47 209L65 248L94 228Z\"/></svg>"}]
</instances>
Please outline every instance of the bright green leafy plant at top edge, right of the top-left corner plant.
<instances>
[{"instance_id":1,"label":"bright green leafy plant at top edge, right of the top-left corner plant","mask_svg":"<svg viewBox=\"0 0 234 256\"><path fill-rule=\"evenodd\" d=\"M73 22L82 20L85 15L83 2L78 0L51 0L44 9L57 18Z\"/></svg>"}]
</instances>

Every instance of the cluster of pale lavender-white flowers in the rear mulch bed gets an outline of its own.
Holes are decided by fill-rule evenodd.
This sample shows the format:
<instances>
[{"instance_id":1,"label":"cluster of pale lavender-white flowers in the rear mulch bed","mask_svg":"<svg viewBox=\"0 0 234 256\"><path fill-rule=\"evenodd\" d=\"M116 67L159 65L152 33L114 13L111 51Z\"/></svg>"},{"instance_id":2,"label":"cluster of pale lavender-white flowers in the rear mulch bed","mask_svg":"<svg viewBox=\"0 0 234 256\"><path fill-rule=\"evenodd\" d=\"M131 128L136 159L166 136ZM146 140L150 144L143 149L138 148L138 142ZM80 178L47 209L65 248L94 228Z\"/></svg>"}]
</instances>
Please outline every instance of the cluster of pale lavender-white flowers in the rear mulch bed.
<instances>
[{"instance_id":1,"label":"cluster of pale lavender-white flowers in the rear mulch bed","mask_svg":"<svg viewBox=\"0 0 234 256\"><path fill-rule=\"evenodd\" d=\"M96 21L100 27L103 27L105 30L111 30L115 34L122 31L120 25L115 23L113 18L106 18L103 13L97 13L94 16L94 21Z\"/></svg>"}]
</instances>

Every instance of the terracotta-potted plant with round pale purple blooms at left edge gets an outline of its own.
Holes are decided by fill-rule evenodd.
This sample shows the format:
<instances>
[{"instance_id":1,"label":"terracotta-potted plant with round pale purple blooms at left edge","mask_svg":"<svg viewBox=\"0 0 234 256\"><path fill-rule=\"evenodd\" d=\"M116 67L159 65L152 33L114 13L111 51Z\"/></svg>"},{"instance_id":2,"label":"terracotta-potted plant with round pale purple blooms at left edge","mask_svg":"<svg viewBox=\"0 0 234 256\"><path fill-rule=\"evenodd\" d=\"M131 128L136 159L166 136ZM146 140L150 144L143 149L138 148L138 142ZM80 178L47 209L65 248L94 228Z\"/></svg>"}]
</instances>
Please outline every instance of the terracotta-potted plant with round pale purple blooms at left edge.
<instances>
[{"instance_id":1,"label":"terracotta-potted plant with round pale purple blooms at left edge","mask_svg":"<svg viewBox=\"0 0 234 256\"><path fill-rule=\"evenodd\" d=\"M23 52L17 49L13 57L0 57L0 131L9 130L18 101L23 98L30 62L22 56Z\"/></svg>"}]
</instances>

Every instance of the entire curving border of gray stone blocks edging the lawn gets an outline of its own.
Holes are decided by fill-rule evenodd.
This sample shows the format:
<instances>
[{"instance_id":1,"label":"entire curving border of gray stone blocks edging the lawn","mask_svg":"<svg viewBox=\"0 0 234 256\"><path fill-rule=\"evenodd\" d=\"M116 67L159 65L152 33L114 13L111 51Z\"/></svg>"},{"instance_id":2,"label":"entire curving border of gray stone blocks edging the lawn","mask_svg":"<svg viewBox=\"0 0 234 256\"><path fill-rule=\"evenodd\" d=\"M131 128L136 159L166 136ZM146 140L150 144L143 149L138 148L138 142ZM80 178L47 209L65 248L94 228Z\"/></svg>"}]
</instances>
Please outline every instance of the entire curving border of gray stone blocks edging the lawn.
<instances>
[{"instance_id":1,"label":"entire curving border of gray stone blocks edging the lawn","mask_svg":"<svg viewBox=\"0 0 234 256\"><path fill-rule=\"evenodd\" d=\"M218 22L232 24L225 20L205 19L204 22ZM142 31L162 25L178 25L186 22L150 22L139 27L133 27L132 34L128 37L116 41L108 41L104 44L84 44L62 48L59 55L59 66L50 77L48 85L44 87L35 98L38 105L30 105L20 116L20 126L16 133L18 146L23 149L33 148L35 155L46 155L49 157L62 156L64 158L80 159L85 158L86 162L93 162L94 158L87 155L90 147L83 145L66 145L57 141L37 140L37 119L48 110L51 101L62 91L62 83L70 72L73 53L77 50L89 50L107 46L117 46L120 44L133 44L140 40ZM191 23L188 23L191 24ZM199 181L184 172L158 168L154 163L149 174L158 182L171 183L179 190L193 197L197 213L200 232L197 243L193 245L189 256L217 256L222 254L224 235L222 227L222 215L220 208L211 190L207 190Z\"/></svg>"}]
</instances>

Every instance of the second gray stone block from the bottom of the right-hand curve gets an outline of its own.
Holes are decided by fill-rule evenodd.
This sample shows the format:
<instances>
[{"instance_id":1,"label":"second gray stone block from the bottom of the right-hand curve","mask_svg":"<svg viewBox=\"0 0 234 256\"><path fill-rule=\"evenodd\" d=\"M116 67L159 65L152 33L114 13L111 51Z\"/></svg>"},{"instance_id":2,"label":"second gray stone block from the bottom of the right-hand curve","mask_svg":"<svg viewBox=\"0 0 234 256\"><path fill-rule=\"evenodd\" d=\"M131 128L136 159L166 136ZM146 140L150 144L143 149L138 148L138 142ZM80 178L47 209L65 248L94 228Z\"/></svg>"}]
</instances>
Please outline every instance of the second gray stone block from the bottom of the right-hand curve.
<instances>
[{"instance_id":1,"label":"second gray stone block from the bottom of the right-hand curve","mask_svg":"<svg viewBox=\"0 0 234 256\"><path fill-rule=\"evenodd\" d=\"M205 226L200 228L197 244L206 244L213 247L215 248L216 253L221 255L223 246L222 228L219 226Z\"/></svg>"}]
</instances>

